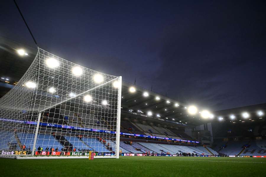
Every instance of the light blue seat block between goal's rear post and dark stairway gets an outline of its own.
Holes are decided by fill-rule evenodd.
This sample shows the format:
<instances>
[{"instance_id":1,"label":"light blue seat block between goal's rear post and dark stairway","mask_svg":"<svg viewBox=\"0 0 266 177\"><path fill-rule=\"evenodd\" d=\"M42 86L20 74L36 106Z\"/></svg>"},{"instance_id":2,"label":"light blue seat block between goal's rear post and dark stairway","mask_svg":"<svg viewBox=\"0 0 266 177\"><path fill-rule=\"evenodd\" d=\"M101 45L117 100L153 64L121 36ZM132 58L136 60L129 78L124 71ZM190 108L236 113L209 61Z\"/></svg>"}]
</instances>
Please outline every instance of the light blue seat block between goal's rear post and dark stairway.
<instances>
[{"instance_id":1,"label":"light blue seat block between goal's rear post and dark stairway","mask_svg":"<svg viewBox=\"0 0 266 177\"><path fill-rule=\"evenodd\" d=\"M38 134L35 146L36 149L38 149L39 146L43 148L43 150L45 150L47 147L53 147L54 149L58 148L58 150L61 151L61 149L64 148L64 146L61 145L60 142L56 140L53 135L50 134Z\"/></svg>"}]
</instances>

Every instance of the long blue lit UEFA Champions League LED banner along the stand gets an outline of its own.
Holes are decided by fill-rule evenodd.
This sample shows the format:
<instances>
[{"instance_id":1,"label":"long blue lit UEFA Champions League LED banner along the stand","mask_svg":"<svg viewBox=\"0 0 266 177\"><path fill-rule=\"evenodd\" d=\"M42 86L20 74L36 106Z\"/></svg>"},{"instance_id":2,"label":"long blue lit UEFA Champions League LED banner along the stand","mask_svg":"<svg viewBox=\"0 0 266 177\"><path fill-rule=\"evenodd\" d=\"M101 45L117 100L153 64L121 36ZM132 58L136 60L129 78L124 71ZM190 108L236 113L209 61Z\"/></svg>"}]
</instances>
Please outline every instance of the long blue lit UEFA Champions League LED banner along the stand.
<instances>
[{"instance_id":1,"label":"long blue lit UEFA Champions League LED banner along the stand","mask_svg":"<svg viewBox=\"0 0 266 177\"><path fill-rule=\"evenodd\" d=\"M34 121L20 121L20 120L12 120L12 119L4 119L0 118L0 121L6 121L6 122L16 122L21 124L32 124L36 125L37 122ZM50 124L50 123L41 123L40 126L45 127L56 127L56 128L64 128L64 129L72 129L72 130L86 130L90 132L100 132L100 133L111 133L116 134L116 132L113 131L107 131L107 130L98 130L98 129L92 129L92 128L83 128L83 127L73 127L69 125L59 125L59 124ZM167 138L167 137L156 137L156 136L148 136L148 135L139 135L139 134L131 134L131 133L124 133L120 132L120 135L128 135L128 136L137 136L137 137L147 137L147 138L155 138L155 139L163 139L163 140L173 140L173 141L181 141L181 142L194 142L199 143L198 141L190 141L190 140L180 140L180 139L174 139L174 138Z\"/></svg>"}]
</instances>

